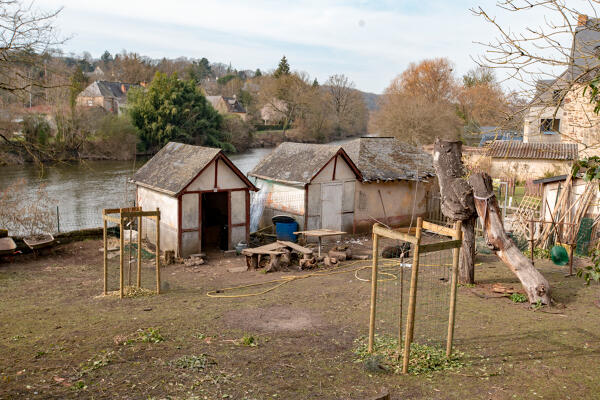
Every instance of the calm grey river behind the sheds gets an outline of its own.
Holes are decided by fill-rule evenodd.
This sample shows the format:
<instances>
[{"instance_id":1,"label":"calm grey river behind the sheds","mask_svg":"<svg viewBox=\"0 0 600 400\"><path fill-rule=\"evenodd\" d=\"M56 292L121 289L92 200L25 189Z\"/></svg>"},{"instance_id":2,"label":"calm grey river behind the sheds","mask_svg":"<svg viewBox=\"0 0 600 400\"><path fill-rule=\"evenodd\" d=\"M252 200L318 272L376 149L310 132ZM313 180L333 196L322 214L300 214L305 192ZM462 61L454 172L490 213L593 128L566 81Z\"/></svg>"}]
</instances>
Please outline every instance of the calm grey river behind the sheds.
<instances>
[{"instance_id":1,"label":"calm grey river behind the sheds","mask_svg":"<svg viewBox=\"0 0 600 400\"><path fill-rule=\"evenodd\" d=\"M342 144L351 139L332 142ZM229 155L247 174L272 148L250 149ZM145 160L144 160L145 161ZM44 185L53 202L53 225L61 232L102 226L102 209L133 205L135 187L128 183L144 161L81 161L55 163L43 168L35 164L0 167L0 190L14 190L19 183L24 201ZM14 234L14 233L13 233Z\"/></svg>"}]
</instances>

